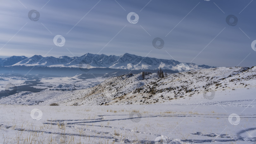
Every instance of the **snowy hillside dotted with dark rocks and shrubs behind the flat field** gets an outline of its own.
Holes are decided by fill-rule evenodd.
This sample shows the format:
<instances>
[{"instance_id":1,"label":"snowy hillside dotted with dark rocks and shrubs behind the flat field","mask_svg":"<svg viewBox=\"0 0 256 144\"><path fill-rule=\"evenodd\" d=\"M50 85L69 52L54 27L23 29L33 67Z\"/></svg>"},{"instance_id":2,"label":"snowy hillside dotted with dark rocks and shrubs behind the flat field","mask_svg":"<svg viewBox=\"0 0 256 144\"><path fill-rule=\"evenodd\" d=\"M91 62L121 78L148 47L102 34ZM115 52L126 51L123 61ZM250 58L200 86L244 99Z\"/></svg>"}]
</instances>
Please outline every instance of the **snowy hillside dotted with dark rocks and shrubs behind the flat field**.
<instances>
[{"instance_id":1,"label":"snowy hillside dotted with dark rocks and shrubs behind the flat field","mask_svg":"<svg viewBox=\"0 0 256 144\"><path fill-rule=\"evenodd\" d=\"M101 79L101 78L98 78ZM251 91L256 87L256 67L221 67L168 74L128 74L109 78L95 87L74 91L17 93L1 99L1 104L124 105L177 103L214 99L215 93ZM243 92L244 93L244 92ZM217 95L217 94L216 94ZM242 97L241 97L242 99Z\"/></svg>"}]
</instances>

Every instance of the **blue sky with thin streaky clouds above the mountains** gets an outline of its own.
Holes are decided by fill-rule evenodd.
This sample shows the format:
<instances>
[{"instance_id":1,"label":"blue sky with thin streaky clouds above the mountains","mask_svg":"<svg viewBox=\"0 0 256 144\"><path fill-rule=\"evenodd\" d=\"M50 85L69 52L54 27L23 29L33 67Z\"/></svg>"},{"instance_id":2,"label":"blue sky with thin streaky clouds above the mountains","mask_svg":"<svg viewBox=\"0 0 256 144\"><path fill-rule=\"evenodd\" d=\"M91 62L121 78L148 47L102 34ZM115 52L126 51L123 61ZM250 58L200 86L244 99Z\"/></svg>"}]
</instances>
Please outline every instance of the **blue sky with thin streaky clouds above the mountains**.
<instances>
[{"instance_id":1,"label":"blue sky with thin streaky clouds above the mountains","mask_svg":"<svg viewBox=\"0 0 256 144\"><path fill-rule=\"evenodd\" d=\"M2 0L0 57L130 53L251 67L255 5L252 0ZM38 21L28 18L32 9L40 13ZM139 16L136 24L127 21L130 12ZM235 26L227 24L228 15L237 17ZM53 43L56 35L65 38L62 47ZM163 39L162 49L152 45L156 37Z\"/></svg>"}]
</instances>

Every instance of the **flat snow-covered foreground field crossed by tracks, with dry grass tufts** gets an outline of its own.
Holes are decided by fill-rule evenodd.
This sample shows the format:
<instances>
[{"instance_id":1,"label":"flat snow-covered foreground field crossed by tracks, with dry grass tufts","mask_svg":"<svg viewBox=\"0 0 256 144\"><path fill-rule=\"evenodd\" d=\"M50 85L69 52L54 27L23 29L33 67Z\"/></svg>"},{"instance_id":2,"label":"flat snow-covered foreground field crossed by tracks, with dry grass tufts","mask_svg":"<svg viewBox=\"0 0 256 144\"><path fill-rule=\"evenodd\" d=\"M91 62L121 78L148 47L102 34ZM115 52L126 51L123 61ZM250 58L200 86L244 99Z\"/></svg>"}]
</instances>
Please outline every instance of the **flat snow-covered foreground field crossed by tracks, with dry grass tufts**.
<instances>
[{"instance_id":1,"label":"flat snow-covered foreground field crossed by tracks, with dry grass tufts","mask_svg":"<svg viewBox=\"0 0 256 144\"><path fill-rule=\"evenodd\" d=\"M0 143L251 144L255 92L165 105L0 105Z\"/></svg>"}]
</instances>

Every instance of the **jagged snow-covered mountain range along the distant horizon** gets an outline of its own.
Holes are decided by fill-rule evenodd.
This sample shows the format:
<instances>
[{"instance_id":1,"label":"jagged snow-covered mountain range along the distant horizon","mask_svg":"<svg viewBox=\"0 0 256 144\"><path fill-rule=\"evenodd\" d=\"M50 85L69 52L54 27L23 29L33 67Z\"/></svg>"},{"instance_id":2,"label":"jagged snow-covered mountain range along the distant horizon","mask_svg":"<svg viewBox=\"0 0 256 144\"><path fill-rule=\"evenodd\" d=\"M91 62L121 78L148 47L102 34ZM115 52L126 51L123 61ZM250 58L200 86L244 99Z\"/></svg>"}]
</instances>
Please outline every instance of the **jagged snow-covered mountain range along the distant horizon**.
<instances>
[{"instance_id":1,"label":"jagged snow-covered mountain range along the distant horizon","mask_svg":"<svg viewBox=\"0 0 256 144\"><path fill-rule=\"evenodd\" d=\"M155 70L168 69L177 71L180 62L175 60L157 59L151 57L141 57L125 53L122 56L115 55L98 55L87 53L81 57L42 57L34 55L33 57L12 56L0 58L0 66L43 66L43 67L69 67L69 68L112 68L112 69L129 69L129 70ZM196 65L194 63L184 63L192 69L214 68L207 65Z\"/></svg>"}]
</instances>

